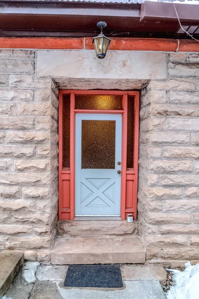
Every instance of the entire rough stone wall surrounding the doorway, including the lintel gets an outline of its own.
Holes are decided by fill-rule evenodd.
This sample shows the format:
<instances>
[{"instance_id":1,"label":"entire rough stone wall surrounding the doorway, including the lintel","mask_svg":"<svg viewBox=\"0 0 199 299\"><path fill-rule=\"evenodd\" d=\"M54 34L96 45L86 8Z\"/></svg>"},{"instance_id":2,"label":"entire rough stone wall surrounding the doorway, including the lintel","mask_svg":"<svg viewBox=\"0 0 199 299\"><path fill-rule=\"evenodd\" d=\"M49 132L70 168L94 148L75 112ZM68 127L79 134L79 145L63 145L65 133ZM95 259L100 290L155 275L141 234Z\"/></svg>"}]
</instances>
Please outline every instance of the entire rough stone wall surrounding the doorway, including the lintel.
<instances>
[{"instance_id":1,"label":"entire rough stone wall surrounding the doorway, including the lintel","mask_svg":"<svg viewBox=\"0 0 199 299\"><path fill-rule=\"evenodd\" d=\"M149 82L141 93L139 233L151 262L198 260L198 63L197 53L108 51L101 61L85 49L0 50L0 249L50 259L56 86L125 90Z\"/></svg>"}]
</instances>

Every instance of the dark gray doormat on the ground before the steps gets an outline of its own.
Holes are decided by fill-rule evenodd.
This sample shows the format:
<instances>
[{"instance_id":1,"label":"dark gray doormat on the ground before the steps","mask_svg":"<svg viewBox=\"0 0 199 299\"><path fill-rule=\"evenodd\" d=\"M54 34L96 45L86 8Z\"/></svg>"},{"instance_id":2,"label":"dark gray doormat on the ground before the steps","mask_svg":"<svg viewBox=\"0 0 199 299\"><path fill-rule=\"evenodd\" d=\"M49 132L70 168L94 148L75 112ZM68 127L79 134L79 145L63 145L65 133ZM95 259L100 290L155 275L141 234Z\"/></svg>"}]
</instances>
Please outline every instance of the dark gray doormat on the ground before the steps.
<instances>
[{"instance_id":1,"label":"dark gray doormat on the ground before the steps","mask_svg":"<svg viewBox=\"0 0 199 299\"><path fill-rule=\"evenodd\" d=\"M64 287L122 288L119 265L70 265Z\"/></svg>"}]
</instances>

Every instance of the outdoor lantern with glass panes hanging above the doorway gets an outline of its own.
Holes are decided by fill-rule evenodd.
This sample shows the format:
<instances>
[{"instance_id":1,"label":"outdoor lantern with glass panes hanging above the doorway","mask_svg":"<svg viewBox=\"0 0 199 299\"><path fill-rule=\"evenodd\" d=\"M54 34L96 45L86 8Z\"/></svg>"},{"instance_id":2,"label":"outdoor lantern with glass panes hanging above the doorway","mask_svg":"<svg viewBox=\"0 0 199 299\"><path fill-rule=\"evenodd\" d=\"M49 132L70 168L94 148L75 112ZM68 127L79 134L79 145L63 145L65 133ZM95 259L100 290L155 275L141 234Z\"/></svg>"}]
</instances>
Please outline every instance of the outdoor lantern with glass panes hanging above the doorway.
<instances>
[{"instance_id":1,"label":"outdoor lantern with glass panes hanging above the doorway","mask_svg":"<svg viewBox=\"0 0 199 299\"><path fill-rule=\"evenodd\" d=\"M101 32L98 36L94 37L93 43L94 43L97 57L103 59L106 55L108 45L111 39L106 37L102 32L102 29L106 26L105 22L98 22L97 26L101 28Z\"/></svg>"}]
</instances>

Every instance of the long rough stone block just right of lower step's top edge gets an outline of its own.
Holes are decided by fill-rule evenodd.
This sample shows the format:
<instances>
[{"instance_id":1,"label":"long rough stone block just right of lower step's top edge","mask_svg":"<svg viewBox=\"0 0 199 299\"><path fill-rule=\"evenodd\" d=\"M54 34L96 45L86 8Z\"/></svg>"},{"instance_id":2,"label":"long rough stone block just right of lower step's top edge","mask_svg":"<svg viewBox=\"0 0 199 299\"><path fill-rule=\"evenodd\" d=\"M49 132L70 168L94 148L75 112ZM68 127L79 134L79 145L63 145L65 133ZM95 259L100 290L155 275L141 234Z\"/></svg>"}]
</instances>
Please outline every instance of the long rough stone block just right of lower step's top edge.
<instances>
[{"instance_id":1,"label":"long rough stone block just right of lower step's top edge","mask_svg":"<svg viewBox=\"0 0 199 299\"><path fill-rule=\"evenodd\" d=\"M174 247L188 246L188 236L167 236L167 235L146 235L145 242L147 247Z\"/></svg>"}]
</instances>

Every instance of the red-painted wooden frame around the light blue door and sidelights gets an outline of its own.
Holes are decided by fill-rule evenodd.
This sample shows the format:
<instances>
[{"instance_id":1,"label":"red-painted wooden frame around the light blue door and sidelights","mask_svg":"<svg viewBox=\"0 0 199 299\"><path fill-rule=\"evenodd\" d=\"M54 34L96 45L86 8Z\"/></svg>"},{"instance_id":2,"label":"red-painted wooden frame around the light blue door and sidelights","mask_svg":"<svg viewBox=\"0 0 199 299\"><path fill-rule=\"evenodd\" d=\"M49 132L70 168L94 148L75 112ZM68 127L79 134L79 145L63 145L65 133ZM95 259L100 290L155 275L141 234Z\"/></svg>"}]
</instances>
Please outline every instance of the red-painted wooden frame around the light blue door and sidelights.
<instances>
[{"instance_id":1,"label":"red-painted wooden frame around the light blue door and sidelights","mask_svg":"<svg viewBox=\"0 0 199 299\"><path fill-rule=\"evenodd\" d=\"M62 167L63 158L63 95L71 95L70 111L70 168ZM123 110L75 110L75 94L123 95ZM134 167L126 169L127 156L127 98L134 97ZM60 90L59 91L59 220L75 217L75 114L122 114L122 169L121 169L121 219L128 213L137 218L138 142L139 142L139 92L111 90Z\"/></svg>"}]
</instances>

